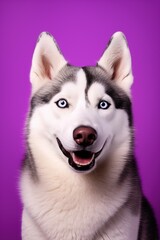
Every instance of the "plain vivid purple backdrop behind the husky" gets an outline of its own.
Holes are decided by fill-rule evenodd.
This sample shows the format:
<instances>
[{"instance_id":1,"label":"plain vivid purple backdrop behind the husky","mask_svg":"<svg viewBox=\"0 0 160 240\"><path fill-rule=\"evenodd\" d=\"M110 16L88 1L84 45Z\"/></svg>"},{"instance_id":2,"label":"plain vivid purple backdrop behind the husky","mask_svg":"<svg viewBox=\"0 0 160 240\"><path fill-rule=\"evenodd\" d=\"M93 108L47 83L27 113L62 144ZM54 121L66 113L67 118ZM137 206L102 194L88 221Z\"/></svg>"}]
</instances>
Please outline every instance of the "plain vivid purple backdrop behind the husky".
<instances>
[{"instance_id":1,"label":"plain vivid purple backdrop behind the husky","mask_svg":"<svg viewBox=\"0 0 160 240\"><path fill-rule=\"evenodd\" d=\"M19 166L30 95L29 71L38 35L51 32L66 59L93 65L115 31L133 59L136 155L143 189L160 226L160 2L0 1L0 239L20 239Z\"/></svg>"}]
</instances>

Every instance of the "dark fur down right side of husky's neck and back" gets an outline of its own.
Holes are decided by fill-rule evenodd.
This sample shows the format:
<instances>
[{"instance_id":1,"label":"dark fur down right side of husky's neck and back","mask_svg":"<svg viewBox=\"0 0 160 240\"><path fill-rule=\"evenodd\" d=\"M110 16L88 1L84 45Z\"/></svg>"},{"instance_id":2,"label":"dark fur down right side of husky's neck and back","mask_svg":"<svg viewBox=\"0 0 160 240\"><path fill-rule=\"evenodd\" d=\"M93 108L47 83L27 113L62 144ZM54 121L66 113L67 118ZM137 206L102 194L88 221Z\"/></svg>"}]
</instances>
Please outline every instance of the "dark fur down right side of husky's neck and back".
<instances>
[{"instance_id":1,"label":"dark fur down right side of husky's neck and back","mask_svg":"<svg viewBox=\"0 0 160 240\"><path fill-rule=\"evenodd\" d=\"M130 183L130 194L124 207L128 207L133 215L137 215L139 211L141 212L138 240L158 240L156 219L149 202L142 196L135 157L134 155L128 155L126 158L128 160L118 181L120 185L125 181Z\"/></svg>"}]
</instances>

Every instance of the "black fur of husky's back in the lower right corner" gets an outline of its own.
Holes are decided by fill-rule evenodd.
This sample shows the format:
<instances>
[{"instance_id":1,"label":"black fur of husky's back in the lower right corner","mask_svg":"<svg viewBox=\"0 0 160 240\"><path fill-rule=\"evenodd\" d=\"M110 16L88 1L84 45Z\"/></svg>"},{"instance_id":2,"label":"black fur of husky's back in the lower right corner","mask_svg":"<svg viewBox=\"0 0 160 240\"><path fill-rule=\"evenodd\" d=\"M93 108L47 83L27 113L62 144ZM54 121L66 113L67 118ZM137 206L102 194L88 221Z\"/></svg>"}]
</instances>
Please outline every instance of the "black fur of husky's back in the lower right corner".
<instances>
[{"instance_id":1,"label":"black fur of husky's back in the lower right corner","mask_svg":"<svg viewBox=\"0 0 160 240\"><path fill-rule=\"evenodd\" d=\"M141 219L138 240L158 240L158 228L153 210L145 197L141 202Z\"/></svg>"}]
</instances>

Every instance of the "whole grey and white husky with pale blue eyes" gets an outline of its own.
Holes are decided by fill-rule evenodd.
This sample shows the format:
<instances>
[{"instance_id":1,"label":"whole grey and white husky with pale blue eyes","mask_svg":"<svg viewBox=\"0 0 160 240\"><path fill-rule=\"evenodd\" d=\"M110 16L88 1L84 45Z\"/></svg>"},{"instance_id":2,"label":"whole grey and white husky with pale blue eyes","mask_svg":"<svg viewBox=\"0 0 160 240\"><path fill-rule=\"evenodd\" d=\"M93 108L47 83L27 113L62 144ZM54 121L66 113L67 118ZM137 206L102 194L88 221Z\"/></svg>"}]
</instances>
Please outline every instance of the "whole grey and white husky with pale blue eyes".
<instances>
[{"instance_id":1,"label":"whole grey and white husky with pale blue eyes","mask_svg":"<svg viewBox=\"0 0 160 240\"><path fill-rule=\"evenodd\" d=\"M157 240L134 157L131 56L121 32L94 67L42 33L21 174L23 240Z\"/></svg>"}]
</instances>

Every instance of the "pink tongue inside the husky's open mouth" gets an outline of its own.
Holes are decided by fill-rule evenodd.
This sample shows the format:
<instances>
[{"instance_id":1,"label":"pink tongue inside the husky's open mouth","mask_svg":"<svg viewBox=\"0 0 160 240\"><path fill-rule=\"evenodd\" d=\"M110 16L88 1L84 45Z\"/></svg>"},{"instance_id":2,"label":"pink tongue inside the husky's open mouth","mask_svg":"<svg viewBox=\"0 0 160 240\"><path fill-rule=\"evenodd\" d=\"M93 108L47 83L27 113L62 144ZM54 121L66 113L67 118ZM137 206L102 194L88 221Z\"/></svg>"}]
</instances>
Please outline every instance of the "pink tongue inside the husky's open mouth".
<instances>
[{"instance_id":1,"label":"pink tongue inside the husky's open mouth","mask_svg":"<svg viewBox=\"0 0 160 240\"><path fill-rule=\"evenodd\" d=\"M71 153L72 159L76 164L79 165L88 165L92 162L94 159L94 154L93 153L87 153L87 154L76 154L76 153Z\"/></svg>"}]
</instances>

